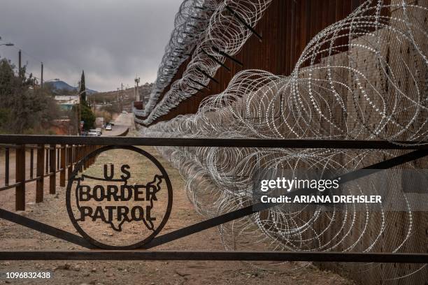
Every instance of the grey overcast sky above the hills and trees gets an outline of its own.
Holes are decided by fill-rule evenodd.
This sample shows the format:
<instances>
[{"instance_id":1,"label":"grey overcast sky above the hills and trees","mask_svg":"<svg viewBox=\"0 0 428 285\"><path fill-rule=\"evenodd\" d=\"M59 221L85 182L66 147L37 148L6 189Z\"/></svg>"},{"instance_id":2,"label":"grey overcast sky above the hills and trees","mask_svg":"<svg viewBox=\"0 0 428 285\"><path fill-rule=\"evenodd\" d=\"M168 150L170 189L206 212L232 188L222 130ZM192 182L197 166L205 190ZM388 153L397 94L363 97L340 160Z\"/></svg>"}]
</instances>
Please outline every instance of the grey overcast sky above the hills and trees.
<instances>
[{"instance_id":1,"label":"grey overcast sky above the hills and trees","mask_svg":"<svg viewBox=\"0 0 428 285\"><path fill-rule=\"evenodd\" d=\"M0 0L0 43L22 49L29 72L115 90L156 78L181 0ZM0 46L17 65L17 48Z\"/></svg>"}]
</instances>

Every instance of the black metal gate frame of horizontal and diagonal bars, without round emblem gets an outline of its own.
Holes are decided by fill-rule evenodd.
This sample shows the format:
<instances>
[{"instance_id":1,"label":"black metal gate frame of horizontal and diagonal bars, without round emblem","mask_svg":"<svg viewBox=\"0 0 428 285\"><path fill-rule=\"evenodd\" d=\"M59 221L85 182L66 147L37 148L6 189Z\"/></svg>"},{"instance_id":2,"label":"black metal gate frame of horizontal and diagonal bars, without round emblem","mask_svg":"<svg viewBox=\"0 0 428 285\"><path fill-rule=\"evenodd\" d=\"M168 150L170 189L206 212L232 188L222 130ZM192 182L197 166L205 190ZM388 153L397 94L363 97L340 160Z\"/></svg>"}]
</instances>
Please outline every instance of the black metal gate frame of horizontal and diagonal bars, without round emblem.
<instances>
[{"instance_id":1,"label":"black metal gate frame of horizontal and diagonal bars, without round emblem","mask_svg":"<svg viewBox=\"0 0 428 285\"><path fill-rule=\"evenodd\" d=\"M260 140L213 138L130 138L80 136L21 136L0 135L0 143L62 144L62 145L150 145L181 147L282 147L334 149L416 149L406 154L375 163L362 169L383 170L428 156L428 145L414 142L387 142L379 140ZM419 142L420 143L420 142ZM342 182L367 175L361 170L342 175ZM347 178L348 177L348 178ZM305 190L303 190L305 191ZM299 191L299 194L302 192ZM294 193L297 195L297 193ZM183 238L221 224L269 209L276 204L258 203L201 221L192 226L159 235L143 249ZM84 238L19 214L0 209L0 218L61 238L87 249L94 246ZM345 253L345 252L287 252L287 251L0 251L0 260L194 260L194 261L327 261L327 262L382 262L428 263L428 254L420 253Z\"/></svg>"}]
</instances>

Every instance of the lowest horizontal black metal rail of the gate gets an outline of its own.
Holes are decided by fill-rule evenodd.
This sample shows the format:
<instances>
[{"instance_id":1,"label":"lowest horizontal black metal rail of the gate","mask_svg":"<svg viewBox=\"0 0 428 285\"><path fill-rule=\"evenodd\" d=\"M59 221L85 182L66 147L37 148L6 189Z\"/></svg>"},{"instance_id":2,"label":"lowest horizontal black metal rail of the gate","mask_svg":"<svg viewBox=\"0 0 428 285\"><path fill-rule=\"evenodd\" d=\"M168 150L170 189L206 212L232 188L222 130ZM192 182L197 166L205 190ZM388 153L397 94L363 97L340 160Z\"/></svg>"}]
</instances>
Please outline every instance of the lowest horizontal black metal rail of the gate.
<instances>
[{"instance_id":1,"label":"lowest horizontal black metal rail of the gate","mask_svg":"<svg viewBox=\"0 0 428 285\"><path fill-rule=\"evenodd\" d=\"M364 263L427 263L426 254L384 254L301 251L2 251L0 260L99 261L319 261Z\"/></svg>"}]
</instances>

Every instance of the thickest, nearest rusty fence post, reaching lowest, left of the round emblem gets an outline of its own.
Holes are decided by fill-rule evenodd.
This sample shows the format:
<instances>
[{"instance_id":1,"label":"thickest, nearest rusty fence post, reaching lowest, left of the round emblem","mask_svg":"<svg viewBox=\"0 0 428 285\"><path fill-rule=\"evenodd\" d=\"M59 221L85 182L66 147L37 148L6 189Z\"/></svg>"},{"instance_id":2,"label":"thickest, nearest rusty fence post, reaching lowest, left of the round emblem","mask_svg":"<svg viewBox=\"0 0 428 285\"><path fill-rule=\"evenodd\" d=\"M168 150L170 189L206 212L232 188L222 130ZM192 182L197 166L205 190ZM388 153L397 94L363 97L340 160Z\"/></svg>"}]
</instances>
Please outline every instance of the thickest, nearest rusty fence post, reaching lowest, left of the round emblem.
<instances>
[{"instance_id":1,"label":"thickest, nearest rusty fence post, reaching lowest, left of the round emblem","mask_svg":"<svg viewBox=\"0 0 428 285\"><path fill-rule=\"evenodd\" d=\"M15 188L15 210L25 210L25 145L16 149L16 183Z\"/></svg>"}]
</instances>

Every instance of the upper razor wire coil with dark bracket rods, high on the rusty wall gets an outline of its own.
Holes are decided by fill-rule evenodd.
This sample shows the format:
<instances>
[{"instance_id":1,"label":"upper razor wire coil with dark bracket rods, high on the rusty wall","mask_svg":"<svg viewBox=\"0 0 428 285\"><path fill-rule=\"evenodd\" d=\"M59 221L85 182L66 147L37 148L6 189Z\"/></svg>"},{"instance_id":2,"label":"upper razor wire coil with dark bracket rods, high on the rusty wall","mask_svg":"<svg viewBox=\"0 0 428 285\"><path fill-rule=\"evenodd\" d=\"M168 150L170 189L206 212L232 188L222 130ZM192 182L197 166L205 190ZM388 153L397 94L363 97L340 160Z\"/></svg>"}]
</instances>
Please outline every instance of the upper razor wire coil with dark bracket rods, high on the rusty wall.
<instances>
[{"instance_id":1,"label":"upper razor wire coil with dark bracket rods, high on the rusty wall","mask_svg":"<svg viewBox=\"0 0 428 285\"><path fill-rule=\"evenodd\" d=\"M158 99L161 92L157 87L158 80L156 81L145 109L143 112L138 112L143 117L148 116L143 120L143 124L150 124L172 108L175 108L181 101L196 94L201 87L208 85L217 69L224 63L226 59L224 54L231 56L238 53L245 41L251 36L252 31L245 24L254 27L270 2L271 0L252 2L222 1L220 4L211 4L213 8L216 8L215 12L212 13L211 17L206 18L206 29L199 34L199 37L194 36L195 41L192 43L197 43L197 45L196 47L192 45L192 48L194 47L192 59L187 64L182 78L171 84L169 91L159 102ZM187 3L187 1L183 3ZM231 15L231 11L236 13L238 17ZM181 12L179 14L181 15ZM171 36L171 41L173 41L174 36L175 33ZM190 52L190 50L187 49L187 52ZM166 53L165 57L169 58L169 54ZM181 64L182 62L180 61L179 63ZM177 65L176 68L178 66L180 65ZM160 68L164 68L164 61L162 61ZM171 73L168 73L171 78L176 74L176 68ZM163 75L164 73L161 74ZM165 82L162 76L159 80Z\"/></svg>"}]
</instances>

